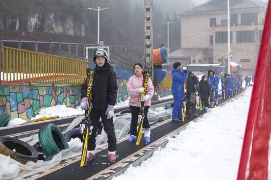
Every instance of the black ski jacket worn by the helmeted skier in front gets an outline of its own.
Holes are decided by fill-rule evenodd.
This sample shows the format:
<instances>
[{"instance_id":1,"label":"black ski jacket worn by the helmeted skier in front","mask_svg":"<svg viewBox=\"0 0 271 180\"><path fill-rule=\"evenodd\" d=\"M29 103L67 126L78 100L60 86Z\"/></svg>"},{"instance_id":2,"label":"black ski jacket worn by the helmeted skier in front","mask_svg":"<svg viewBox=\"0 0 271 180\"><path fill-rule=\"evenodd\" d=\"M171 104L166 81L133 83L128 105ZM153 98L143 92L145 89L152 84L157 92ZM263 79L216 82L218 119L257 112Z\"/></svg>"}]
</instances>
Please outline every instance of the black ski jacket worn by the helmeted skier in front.
<instances>
[{"instance_id":1,"label":"black ski jacket worn by the helmeted skier in front","mask_svg":"<svg viewBox=\"0 0 271 180\"><path fill-rule=\"evenodd\" d=\"M117 76L112 66L106 64L102 69L97 66L94 69L92 84L92 106L94 109L105 111L107 105L115 105L117 102ZM87 81L82 84L81 99L87 97Z\"/></svg>"}]
</instances>

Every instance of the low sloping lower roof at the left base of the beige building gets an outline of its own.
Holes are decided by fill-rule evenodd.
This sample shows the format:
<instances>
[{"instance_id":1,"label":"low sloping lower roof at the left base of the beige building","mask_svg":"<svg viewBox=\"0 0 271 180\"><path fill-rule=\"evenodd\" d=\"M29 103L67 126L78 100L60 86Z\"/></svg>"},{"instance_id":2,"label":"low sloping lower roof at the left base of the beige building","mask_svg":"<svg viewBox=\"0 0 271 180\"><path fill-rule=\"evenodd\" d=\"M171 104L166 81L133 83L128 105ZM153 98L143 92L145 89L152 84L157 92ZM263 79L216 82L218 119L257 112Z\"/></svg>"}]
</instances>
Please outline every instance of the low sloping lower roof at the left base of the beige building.
<instances>
[{"instance_id":1,"label":"low sloping lower roof at the left base of the beige building","mask_svg":"<svg viewBox=\"0 0 271 180\"><path fill-rule=\"evenodd\" d=\"M207 48L181 48L169 53L169 58L188 58Z\"/></svg>"}]
</instances>

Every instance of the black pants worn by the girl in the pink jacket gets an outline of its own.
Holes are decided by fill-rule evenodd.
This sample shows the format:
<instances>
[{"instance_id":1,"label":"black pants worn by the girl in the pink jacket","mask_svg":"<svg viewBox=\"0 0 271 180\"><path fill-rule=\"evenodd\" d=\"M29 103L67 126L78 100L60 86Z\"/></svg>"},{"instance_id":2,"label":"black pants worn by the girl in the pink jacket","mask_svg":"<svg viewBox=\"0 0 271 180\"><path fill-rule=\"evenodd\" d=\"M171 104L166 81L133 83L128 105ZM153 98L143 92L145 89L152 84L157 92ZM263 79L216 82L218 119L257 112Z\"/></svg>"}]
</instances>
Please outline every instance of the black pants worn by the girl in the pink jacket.
<instances>
[{"instance_id":1,"label":"black pants worn by the girl in the pink jacket","mask_svg":"<svg viewBox=\"0 0 271 180\"><path fill-rule=\"evenodd\" d=\"M146 105L144 107L144 116L145 117L143 119L143 126L142 126L144 129L151 128L150 124L149 124L149 121L148 121L148 110L149 110L149 108L150 108L150 106L148 106L148 105ZM132 114L131 127L130 127L131 135L137 136L136 128L137 128L138 113L139 113L140 107L130 105L130 110L131 110L131 114Z\"/></svg>"}]
</instances>

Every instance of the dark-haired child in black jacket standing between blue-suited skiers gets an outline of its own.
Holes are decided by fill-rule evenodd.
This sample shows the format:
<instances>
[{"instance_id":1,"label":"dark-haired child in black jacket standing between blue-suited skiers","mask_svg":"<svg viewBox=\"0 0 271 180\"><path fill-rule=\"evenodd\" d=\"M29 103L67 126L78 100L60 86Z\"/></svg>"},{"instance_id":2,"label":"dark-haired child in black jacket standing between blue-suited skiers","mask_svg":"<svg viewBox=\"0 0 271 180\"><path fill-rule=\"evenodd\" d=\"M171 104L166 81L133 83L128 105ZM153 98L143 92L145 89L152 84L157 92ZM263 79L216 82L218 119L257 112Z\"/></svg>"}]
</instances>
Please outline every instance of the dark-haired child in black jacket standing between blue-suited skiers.
<instances>
[{"instance_id":1,"label":"dark-haired child in black jacket standing between blue-suited skiers","mask_svg":"<svg viewBox=\"0 0 271 180\"><path fill-rule=\"evenodd\" d=\"M207 110L209 107L208 98L210 96L210 86L205 75L203 75L202 80L200 81L200 91L202 104L204 104L205 110Z\"/></svg>"}]
</instances>

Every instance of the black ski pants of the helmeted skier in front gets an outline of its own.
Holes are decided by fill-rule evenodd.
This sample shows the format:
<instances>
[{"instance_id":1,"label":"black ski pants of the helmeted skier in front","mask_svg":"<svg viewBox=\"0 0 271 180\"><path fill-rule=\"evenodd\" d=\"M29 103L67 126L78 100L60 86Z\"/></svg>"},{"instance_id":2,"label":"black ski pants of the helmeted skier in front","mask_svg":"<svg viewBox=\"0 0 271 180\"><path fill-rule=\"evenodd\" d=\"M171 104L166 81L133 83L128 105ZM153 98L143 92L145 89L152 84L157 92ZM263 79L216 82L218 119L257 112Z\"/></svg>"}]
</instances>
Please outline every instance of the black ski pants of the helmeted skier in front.
<instances>
[{"instance_id":1,"label":"black ski pants of the helmeted skier in front","mask_svg":"<svg viewBox=\"0 0 271 180\"><path fill-rule=\"evenodd\" d=\"M103 123L103 129L107 134L107 143L108 143L108 151L114 152L117 150L117 138L115 135L115 128L113 124L113 117L107 119L107 115L105 115L105 111L98 109L91 109L90 114L90 125L93 126L92 133L89 135L88 141L88 150L93 151L96 148L96 132L98 130L98 124L100 121L100 117Z\"/></svg>"}]
</instances>

